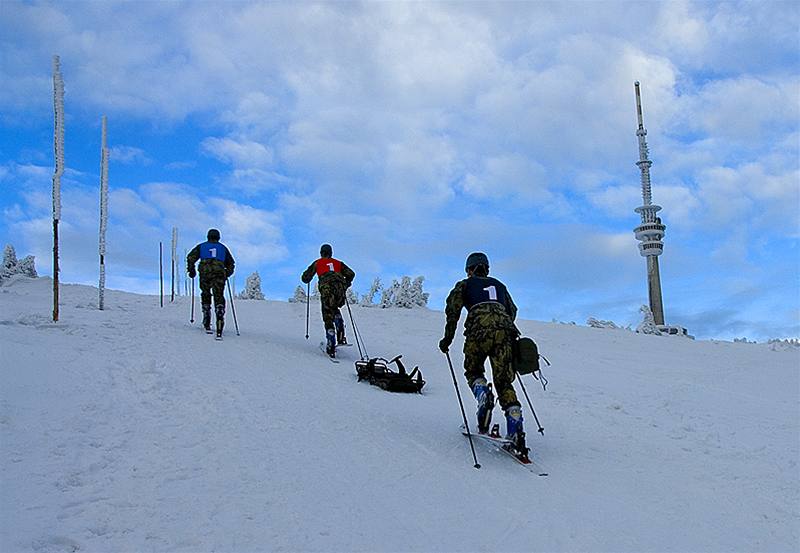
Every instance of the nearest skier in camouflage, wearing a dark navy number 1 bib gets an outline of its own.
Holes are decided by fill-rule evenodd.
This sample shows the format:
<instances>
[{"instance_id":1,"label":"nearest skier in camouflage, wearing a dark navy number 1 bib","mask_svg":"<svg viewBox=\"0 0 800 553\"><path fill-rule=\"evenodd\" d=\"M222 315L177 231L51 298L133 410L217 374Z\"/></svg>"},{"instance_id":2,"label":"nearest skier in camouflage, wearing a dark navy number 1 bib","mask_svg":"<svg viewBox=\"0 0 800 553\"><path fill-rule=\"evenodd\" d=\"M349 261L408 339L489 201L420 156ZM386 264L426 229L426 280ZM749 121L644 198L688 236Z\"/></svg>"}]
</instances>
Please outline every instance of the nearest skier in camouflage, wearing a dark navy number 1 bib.
<instances>
[{"instance_id":1,"label":"nearest skier in camouflage, wearing a dark navy number 1 bib","mask_svg":"<svg viewBox=\"0 0 800 553\"><path fill-rule=\"evenodd\" d=\"M439 349L447 353L455 337L462 308L467 308L464 322L464 376L478 400L478 430L487 432L491 422L494 396L488 388L484 364L488 357L492 365L492 380L506 412L507 435L514 437L522 432L522 413L514 391L513 346L519 337L514 320L517 306L514 305L505 284L489 276L489 259L476 252L467 258L467 278L456 283L447 296L445 306L444 338Z\"/></svg>"}]
</instances>

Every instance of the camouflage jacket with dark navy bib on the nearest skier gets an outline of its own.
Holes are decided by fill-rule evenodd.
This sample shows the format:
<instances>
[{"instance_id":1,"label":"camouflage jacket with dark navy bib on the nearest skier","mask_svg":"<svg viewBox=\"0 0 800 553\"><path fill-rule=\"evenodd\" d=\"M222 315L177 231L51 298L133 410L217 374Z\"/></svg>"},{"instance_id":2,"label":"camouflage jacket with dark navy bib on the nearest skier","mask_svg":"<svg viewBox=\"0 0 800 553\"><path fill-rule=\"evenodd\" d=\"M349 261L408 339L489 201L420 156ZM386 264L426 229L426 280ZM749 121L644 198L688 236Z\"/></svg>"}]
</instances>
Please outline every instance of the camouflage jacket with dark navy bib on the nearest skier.
<instances>
[{"instance_id":1,"label":"camouflage jacket with dark navy bib on the nearest skier","mask_svg":"<svg viewBox=\"0 0 800 553\"><path fill-rule=\"evenodd\" d=\"M487 297L476 298L475 290L487 291L495 288ZM467 308L467 320L464 322L464 336L472 338L487 331L509 330L513 335L519 334L514 320L517 318L517 306L505 285L492 277L471 276L456 283L445 304L447 322L444 337L452 341L456 334L461 309Z\"/></svg>"}]
</instances>

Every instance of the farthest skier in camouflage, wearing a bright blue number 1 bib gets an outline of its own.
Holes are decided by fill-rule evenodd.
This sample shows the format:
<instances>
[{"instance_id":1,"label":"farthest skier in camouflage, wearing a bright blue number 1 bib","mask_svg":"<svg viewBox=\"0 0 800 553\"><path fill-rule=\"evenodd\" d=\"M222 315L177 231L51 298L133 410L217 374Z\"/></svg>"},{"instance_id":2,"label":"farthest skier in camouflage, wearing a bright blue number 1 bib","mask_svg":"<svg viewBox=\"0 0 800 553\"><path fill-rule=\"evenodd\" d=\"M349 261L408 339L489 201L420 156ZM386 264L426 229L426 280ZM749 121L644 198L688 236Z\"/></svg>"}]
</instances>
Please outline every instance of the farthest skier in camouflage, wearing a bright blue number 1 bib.
<instances>
[{"instance_id":1,"label":"farthest skier in camouflage, wearing a bright blue number 1 bib","mask_svg":"<svg viewBox=\"0 0 800 553\"><path fill-rule=\"evenodd\" d=\"M217 229L209 229L208 241L196 245L186 256L187 272L194 278L195 263L200 260L200 305L203 309L203 328L211 332L211 296L214 296L214 310L217 315L217 337L222 337L225 326L225 283L233 274L236 262L230 250L219 241Z\"/></svg>"}]
</instances>

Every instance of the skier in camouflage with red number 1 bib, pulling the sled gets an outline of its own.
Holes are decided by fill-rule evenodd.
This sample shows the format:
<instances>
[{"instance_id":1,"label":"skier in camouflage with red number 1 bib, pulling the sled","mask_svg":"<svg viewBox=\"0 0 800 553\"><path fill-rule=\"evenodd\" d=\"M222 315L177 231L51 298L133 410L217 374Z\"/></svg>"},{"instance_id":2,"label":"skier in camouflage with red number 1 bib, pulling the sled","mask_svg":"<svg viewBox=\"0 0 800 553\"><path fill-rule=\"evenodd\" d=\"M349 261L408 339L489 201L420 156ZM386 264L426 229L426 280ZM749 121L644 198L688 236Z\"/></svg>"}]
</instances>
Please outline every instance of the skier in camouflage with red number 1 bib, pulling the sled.
<instances>
[{"instance_id":1,"label":"skier in camouflage with red number 1 bib, pulling the sled","mask_svg":"<svg viewBox=\"0 0 800 553\"><path fill-rule=\"evenodd\" d=\"M325 325L326 351L336 355L336 344L346 344L344 319L339 308L347 301L347 289L356 274L343 261L333 258L333 248L323 244L319 249L320 258L303 271L301 280L308 284L317 275L322 308L322 322Z\"/></svg>"}]
</instances>

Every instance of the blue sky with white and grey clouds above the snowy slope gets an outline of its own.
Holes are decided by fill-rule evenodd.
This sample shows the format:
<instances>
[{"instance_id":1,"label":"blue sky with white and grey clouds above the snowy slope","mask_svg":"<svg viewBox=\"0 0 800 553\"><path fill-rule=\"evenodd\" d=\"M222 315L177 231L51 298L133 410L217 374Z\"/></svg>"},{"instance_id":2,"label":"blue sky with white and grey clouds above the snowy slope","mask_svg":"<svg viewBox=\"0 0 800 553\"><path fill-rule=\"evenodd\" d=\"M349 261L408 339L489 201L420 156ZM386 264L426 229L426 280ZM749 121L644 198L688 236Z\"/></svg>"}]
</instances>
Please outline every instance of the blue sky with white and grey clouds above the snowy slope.
<instances>
[{"instance_id":1,"label":"blue sky with white and grey clouds above the snowy slope","mask_svg":"<svg viewBox=\"0 0 800 553\"><path fill-rule=\"evenodd\" d=\"M286 299L319 245L431 307L485 251L525 318L647 302L642 86L668 323L800 335L797 2L0 3L0 241L51 266L52 56L65 81L62 275L158 290L158 242L217 227Z\"/></svg>"}]
</instances>

